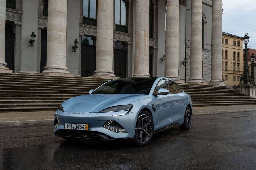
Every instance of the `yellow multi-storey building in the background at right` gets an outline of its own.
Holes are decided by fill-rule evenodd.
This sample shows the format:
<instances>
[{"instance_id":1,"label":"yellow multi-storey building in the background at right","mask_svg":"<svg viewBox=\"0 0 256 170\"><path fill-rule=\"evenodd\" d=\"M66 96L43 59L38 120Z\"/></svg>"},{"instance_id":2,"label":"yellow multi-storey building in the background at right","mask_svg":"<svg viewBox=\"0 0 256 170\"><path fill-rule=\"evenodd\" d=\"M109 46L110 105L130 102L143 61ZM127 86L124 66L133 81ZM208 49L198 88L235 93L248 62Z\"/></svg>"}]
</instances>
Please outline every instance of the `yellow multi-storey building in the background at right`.
<instances>
[{"instance_id":1,"label":"yellow multi-storey building in the background at right","mask_svg":"<svg viewBox=\"0 0 256 170\"><path fill-rule=\"evenodd\" d=\"M238 85L243 74L243 37L222 33L222 79L227 85Z\"/></svg>"}]
</instances>

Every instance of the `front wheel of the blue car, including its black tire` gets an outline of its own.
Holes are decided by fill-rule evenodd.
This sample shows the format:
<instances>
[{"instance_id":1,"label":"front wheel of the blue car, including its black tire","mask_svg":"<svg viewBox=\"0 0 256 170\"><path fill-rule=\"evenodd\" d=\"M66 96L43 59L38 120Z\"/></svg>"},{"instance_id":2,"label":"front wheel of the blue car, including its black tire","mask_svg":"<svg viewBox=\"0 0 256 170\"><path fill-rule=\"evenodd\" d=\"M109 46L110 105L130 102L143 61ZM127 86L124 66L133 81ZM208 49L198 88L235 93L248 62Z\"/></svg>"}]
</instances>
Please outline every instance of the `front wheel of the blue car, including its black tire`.
<instances>
[{"instance_id":1,"label":"front wheel of the blue car, including its black tire","mask_svg":"<svg viewBox=\"0 0 256 170\"><path fill-rule=\"evenodd\" d=\"M154 123L152 116L147 111L140 111L135 125L133 142L137 146L146 146L151 141L153 134Z\"/></svg>"}]
</instances>

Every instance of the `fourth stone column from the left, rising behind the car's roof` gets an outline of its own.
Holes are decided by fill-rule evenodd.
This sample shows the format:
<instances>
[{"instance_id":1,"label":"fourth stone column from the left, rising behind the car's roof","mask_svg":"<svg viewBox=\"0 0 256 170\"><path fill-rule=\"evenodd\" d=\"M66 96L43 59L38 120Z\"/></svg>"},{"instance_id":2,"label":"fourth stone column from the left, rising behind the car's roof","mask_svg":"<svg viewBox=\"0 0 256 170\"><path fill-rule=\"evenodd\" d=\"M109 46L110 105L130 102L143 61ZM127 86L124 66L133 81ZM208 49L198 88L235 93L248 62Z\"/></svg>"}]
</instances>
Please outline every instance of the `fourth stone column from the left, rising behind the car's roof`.
<instances>
[{"instance_id":1,"label":"fourth stone column from the left, rising behind the car's roof","mask_svg":"<svg viewBox=\"0 0 256 170\"><path fill-rule=\"evenodd\" d=\"M149 75L149 0L136 0L135 66L133 76Z\"/></svg>"}]
</instances>

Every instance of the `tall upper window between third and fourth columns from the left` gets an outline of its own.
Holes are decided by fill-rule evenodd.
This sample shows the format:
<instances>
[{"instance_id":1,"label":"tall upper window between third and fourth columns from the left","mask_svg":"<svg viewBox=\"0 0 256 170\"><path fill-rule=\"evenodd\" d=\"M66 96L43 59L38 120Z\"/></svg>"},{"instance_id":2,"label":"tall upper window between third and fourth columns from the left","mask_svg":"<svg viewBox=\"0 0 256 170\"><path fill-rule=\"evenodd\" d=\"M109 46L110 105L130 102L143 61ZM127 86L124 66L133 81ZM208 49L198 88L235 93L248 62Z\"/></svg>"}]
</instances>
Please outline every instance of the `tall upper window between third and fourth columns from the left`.
<instances>
[{"instance_id":1,"label":"tall upper window between third and fourth columns from the left","mask_svg":"<svg viewBox=\"0 0 256 170\"><path fill-rule=\"evenodd\" d=\"M128 12L127 0L115 0L115 24L116 24L117 31L128 32L127 12Z\"/></svg>"}]
</instances>

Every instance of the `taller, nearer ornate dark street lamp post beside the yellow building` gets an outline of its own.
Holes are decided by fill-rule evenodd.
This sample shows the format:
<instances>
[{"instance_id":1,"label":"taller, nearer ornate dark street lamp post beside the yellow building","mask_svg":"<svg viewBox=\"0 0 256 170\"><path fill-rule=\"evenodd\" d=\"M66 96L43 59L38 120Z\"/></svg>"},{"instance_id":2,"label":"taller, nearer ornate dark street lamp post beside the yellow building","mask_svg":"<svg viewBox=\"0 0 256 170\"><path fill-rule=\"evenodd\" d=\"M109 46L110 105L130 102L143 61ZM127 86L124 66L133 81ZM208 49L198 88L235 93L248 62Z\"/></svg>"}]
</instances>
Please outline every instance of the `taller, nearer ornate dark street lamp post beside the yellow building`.
<instances>
[{"instance_id":1,"label":"taller, nearer ornate dark street lamp post beside the yellow building","mask_svg":"<svg viewBox=\"0 0 256 170\"><path fill-rule=\"evenodd\" d=\"M248 66L248 50L249 49L247 48L247 45L249 43L249 39L250 39L250 37L248 36L248 33L246 33L244 36L244 45L245 45L245 48L244 48L244 72L240 77L240 83L238 86L246 86L249 84L249 82L252 83L252 78L251 78L251 75L249 72L249 66ZM243 84L242 84L242 82L243 82Z\"/></svg>"}]
</instances>

